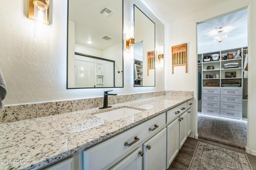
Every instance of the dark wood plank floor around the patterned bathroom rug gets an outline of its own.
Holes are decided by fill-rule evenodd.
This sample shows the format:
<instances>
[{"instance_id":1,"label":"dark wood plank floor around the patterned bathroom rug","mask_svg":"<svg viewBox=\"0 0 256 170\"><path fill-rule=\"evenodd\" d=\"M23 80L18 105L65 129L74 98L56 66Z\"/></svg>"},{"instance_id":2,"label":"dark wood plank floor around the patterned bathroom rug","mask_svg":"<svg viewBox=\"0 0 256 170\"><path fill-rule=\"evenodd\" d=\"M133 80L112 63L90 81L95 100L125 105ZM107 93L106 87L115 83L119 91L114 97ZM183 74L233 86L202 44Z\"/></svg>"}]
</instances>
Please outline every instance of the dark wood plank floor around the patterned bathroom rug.
<instances>
[{"instance_id":1,"label":"dark wood plank floor around the patterned bathroom rug","mask_svg":"<svg viewBox=\"0 0 256 170\"><path fill-rule=\"evenodd\" d=\"M230 150L234 150L237 152L241 152L241 153L245 153L248 157L248 160L252 166L253 170L256 170L256 156L252 155L252 154L247 154L245 152L245 150L243 149L239 149L239 148L235 148L235 147L231 147L228 145L224 145L221 143L216 143L213 141L209 141L206 139L193 139L188 137L188 139L186 140L186 142L184 143L184 145L182 146L182 148L179 150L178 154L176 155L176 157L174 158L174 160L172 161L172 164L170 165L170 167L168 168L168 170L187 170L190 162L192 160L192 157L194 155L194 151L196 149L196 145L198 143L198 141L202 141L202 142L206 142L206 143L210 143L219 147L223 147L226 149L230 149Z\"/></svg>"}]
</instances>

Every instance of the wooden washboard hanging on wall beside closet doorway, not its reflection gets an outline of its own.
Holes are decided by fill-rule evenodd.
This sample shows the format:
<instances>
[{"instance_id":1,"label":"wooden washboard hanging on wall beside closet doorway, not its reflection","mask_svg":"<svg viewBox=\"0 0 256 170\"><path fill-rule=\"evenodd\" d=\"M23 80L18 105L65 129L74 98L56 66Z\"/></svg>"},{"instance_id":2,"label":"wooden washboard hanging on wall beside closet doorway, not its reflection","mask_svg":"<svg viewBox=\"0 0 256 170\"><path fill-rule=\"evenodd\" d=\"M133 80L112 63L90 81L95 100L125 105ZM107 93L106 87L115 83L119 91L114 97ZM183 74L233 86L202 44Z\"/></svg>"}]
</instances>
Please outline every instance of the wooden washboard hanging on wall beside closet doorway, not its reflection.
<instances>
[{"instance_id":1,"label":"wooden washboard hanging on wall beside closet doorway, not its reflection","mask_svg":"<svg viewBox=\"0 0 256 170\"><path fill-rule=\"evenodd\" d=\"M187 43L172 46L172 74L174 66L186 66L186 72L188 72L187 66Z\"/></svg>"}]
</instances>

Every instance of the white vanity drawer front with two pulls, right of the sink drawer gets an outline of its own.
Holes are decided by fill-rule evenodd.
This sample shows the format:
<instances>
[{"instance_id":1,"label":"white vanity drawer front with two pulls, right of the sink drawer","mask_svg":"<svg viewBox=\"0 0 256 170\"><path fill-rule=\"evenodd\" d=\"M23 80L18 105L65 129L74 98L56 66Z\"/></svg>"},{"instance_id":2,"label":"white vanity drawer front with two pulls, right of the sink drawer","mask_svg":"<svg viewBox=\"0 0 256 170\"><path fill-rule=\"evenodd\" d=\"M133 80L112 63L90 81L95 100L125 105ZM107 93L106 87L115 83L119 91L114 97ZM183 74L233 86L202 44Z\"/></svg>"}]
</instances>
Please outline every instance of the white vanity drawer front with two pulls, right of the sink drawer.
<instances>
[{"instance_id":1,"label":"white vanity drawer front with two pulls, right of the sink drawer","mask_svg":"<svg viewBox=\"0 0 256 170\"><path fill-rule=\"evenodd\" d=\"M168 111L166 111L166 123L170 123L176 117L180 116L182 113L186 111L187 103L180 104Z\"/></svg>"}]
</instances>

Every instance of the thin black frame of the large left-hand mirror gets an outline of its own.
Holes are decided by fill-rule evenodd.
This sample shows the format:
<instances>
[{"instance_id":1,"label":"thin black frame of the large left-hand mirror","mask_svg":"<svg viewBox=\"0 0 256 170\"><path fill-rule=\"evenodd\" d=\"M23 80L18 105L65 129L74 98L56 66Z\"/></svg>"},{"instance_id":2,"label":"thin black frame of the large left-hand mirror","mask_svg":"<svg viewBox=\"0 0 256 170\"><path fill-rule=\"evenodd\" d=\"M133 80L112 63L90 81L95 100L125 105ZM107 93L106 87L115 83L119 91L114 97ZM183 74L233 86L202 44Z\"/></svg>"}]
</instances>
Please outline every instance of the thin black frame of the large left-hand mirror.
<instances>
[{"instance_id":1,"label":"thin black frame of the large left-hand mirror","mask_svg":"<svg viewBox=\"0 0 256 170\"><path fill-rule=\"evenodd\" d=\"M66 64L66 68L67 68L67 72L66 72L66 89L89 89L89 88L94 88L94 89L97 89L97 88L124 88L124 0L121 0L122 1L122 86L116 86L114 84L114 87L85 87L85 88L68 88L68 16L69 16L69 1L67 2L67 46L66 46L66 53L67 53L67 64ZM76 52L75 52L76 53ZM81 53L80 53L81 54ZM75 55L75 54L74 54ZM82 54L82 55L86 55L86 54ZM87 55L89 56L89 55ZM94 56L92 56L94 57ZM100 57L98 57L100 58ZM102 59L102 58L100 58ZM108 60L108 59L106 59ZM114 66L115 68L115 66ZM114 73L115 75L115 73ZM116 82L116 78L114 78L114 83Z\"/></svg>"}]
</instances>

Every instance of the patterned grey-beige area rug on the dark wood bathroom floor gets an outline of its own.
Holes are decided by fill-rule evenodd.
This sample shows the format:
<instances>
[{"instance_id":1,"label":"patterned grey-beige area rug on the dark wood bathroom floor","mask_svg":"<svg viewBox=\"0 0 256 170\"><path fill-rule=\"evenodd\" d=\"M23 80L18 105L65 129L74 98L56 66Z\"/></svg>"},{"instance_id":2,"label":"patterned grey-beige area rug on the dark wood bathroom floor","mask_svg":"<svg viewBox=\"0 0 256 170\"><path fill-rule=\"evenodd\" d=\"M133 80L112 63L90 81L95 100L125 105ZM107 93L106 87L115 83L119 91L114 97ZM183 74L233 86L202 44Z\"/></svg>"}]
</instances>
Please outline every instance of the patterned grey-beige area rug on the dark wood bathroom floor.
<instances>
[{"instance_id":1,"label":"patterned grey-beige area rug on the dark wood bathroom floor","mask_svg":"<svg viewBox=\"0 0 256 170\"><path fill-rule=\"evenodd\" d=\"M188 170L252 170L246 154L198 141Z\"/></svg>"}]
</instances>

